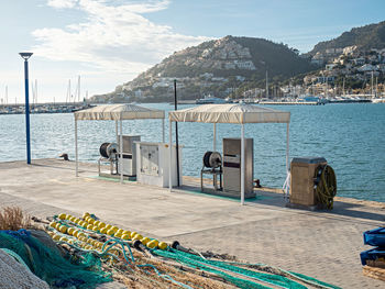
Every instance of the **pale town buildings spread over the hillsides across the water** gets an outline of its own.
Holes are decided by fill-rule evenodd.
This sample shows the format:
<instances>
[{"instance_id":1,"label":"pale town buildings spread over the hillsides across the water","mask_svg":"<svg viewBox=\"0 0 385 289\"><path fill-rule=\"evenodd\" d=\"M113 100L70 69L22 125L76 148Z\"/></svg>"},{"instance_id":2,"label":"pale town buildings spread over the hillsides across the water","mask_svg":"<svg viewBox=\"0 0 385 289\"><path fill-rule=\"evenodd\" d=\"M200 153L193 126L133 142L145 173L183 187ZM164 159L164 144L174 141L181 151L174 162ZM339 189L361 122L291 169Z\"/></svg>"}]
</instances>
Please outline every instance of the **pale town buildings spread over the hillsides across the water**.
<instances>
[{"instance_id":1,"label":"pale town buildings spread over the hillsides across the water","mask_svg":"<svg viewBox=\"0 0 385 289\"><path fill-rule=\"evenodd\" d=\"M177 80L177 88L182 89L180 96L188 98L201 98L205 93L216 97L235 97L248 99L301 99L304 96L341 96L345 93L370 95L384 93L385 76L385 49L360 49L356 46L340 48L327 48L318 52L311 57L311 63L320 69L309 73L302 79L293 78L293 82L285 85L272 79L266 91L265 84L258 80L253 82L245 76L222 73L219 70L256 70L252 60L250 49L242 47L235 41L227 40L222 45L218 40L210 48L189 47L175 53L180 58L168 59L167 65L178 67L182 62L185 67L193 69L189 77L168 77L167 66L161 63L155 66L155 71L146 71L139 81L131 81L117 87L121 96L130 96L134 99L157 99L158 96L169 97L174 89L174 80ZM189 56L186 56L189 55ZM195 69L195 70L194 70ZM200 73L199 71L206 71ZM179 75L183 73L179 73ZM265 74L265 71L263 71ZM299 85L298 82L302 82ZM252 85L258 87L252 87ZM375 86L375 88L373 88ZM381 90L383 89L383 90Z\"/></svg>"}]
</instances>

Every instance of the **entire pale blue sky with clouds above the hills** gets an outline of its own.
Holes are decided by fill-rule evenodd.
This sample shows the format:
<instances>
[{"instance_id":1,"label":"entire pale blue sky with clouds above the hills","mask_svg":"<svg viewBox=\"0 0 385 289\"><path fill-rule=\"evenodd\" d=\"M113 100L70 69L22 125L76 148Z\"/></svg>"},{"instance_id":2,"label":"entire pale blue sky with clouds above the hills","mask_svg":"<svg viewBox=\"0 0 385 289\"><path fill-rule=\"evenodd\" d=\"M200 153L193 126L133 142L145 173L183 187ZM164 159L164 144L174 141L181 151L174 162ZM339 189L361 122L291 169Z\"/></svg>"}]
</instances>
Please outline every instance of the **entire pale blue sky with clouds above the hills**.
<instances>
[{"instance_id":1,"label":"entire pale blue sky with clouds above the hills","mask_svg":"<svg viewBox=\"0 0 385 289\"><path fill-rule=\"evenodd\" d=\"M384 0L2 0L0 101L7 87L9 103L24 102L20 52L33 53L37 101L65 101L78 76L81 99L111 92L204 41L263 37L306 53L384 12Z\"/></svg>"}]
</instances>

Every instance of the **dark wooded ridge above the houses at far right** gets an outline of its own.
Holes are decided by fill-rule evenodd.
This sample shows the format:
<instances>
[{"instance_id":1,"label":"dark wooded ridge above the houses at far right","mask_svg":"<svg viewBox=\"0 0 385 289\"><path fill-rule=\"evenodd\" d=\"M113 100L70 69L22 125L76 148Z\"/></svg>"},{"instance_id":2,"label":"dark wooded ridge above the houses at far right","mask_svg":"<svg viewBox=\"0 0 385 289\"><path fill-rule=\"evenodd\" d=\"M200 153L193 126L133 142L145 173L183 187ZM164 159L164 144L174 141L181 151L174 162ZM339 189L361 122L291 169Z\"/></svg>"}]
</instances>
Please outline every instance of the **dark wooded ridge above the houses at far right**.
<instances>
[{"instance_id":1,"label":"dark wooded ridge above the houses at far right","mask_svg":"<svg viewBox=\"0 0 385 289\"><path fill-rule=\"evenodd\" d=\"M320 42L308 54L314 56L317 53L324 53L327 49L344 48L354 45L362 51L385 48L385 21L362 27L354 27L349 32L342 33L337 38Z\"/></svg>"}]
</instances>

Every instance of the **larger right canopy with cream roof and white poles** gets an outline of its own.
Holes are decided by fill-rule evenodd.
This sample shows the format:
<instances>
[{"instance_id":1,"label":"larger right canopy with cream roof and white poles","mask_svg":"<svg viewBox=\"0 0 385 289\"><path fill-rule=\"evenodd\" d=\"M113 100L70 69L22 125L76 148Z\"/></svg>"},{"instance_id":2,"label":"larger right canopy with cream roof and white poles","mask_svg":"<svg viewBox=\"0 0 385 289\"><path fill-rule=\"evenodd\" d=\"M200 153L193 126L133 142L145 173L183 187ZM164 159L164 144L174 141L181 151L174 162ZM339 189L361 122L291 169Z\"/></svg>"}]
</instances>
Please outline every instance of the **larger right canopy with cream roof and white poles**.
<instances>
[{"instance_id":1,"label":"larger right canopy with cream roof and white poles","mask_svg":"<svg viewBox=\"0 0 385 289\"><path fill-rule=\"evenodd\" d=\"M169 120L169 149L172 147L173 122L206 122L213 123L213 152L217 151L217 123L241 124L241 204L244 203L244 124L245 123L286 123L286 171L284 184L286 196L289 186L289 123L290 112L261 108L254 104L205 104L185 110L168 112ZM169 153L169 169L172 168L172 153ZM172 173L169 171L169 190L173 189Z\"/></svg>"}]
</instances>

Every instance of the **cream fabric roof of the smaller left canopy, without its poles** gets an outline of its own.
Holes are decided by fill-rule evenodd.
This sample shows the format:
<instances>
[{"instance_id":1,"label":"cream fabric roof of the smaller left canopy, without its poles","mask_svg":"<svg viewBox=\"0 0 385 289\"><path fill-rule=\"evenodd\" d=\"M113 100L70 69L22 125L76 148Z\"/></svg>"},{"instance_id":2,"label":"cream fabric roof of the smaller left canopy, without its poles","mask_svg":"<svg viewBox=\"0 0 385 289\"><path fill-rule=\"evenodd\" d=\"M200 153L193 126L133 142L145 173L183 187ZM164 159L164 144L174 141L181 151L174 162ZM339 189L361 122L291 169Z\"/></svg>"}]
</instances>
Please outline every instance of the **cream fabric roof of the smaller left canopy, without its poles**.
<instances>
[{"instance_id":1,"label":"cream fabric roof of the smaller left canopy, without its poles","mask_svg":"<svg viewBox=\"0 0 385 289\"><path fill-rule=\"evenodd\" d=\"M134 104L103 104L87 110L76 111L75 120L138 120L138 119L164 119L163 110L147 109Z\"/></svg>"}]
</instances>

